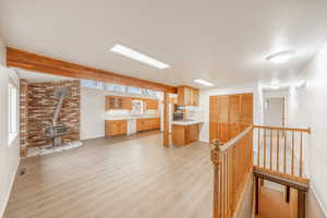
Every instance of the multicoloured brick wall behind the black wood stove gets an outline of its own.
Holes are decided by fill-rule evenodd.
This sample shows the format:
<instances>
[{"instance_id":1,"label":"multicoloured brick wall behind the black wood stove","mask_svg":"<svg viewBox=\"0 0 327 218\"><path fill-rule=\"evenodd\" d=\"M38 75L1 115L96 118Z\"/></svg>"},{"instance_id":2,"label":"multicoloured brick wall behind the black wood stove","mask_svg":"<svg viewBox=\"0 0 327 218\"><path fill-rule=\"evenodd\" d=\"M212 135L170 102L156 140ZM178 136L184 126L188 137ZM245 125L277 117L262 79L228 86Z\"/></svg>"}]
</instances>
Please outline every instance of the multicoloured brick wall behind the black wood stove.
<instances>
[{"instance_id":1,"label":"multicoloured brick wall behind the black wood stove","mask_svg":"<svg viewBox=\"0 0 327 218\"><path fill-rule=\"evenodd\" d=\"M51 141L44 137L44 129L52 124L53 113L59 99L55 97L56 87L66 86L70 88L70 96L64 99L60 111L58 123L69 128L70 134L62 137L62 142L80 140L80 81L59 81L46 83L28 83L27 93L24 88L21 90L21 102L24 95L27 95L27 128L26 138L21 137L21 145L24 146L24 140L27 147L38 147L51 144ZM23 107L21 107L23 108ZM24 110L21 109L21 119L24 117ZM24 136L24 128L21 134Z\"/></svg>"}]
</instances>

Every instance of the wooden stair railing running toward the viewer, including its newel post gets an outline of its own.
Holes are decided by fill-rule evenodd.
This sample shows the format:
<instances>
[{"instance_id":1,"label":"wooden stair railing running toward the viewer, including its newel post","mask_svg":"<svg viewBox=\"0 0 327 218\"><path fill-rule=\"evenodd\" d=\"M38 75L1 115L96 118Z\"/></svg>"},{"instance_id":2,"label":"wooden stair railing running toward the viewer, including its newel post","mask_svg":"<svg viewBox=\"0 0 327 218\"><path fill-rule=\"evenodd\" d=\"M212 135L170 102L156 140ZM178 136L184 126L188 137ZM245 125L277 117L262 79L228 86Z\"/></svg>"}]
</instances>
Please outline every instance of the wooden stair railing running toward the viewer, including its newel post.
<instances>
[{"instance_id":1,"label":"wooden stair railing running toward the viewer, including its newel post","mask_svg":"<svg viewBox=\"0 0 327 218\"><path fill-rule=\"evenodd\" d=\"M233 217L253 168L253 126L226 144L213 140L214 218Z\"/></svg>"}]
</instances>

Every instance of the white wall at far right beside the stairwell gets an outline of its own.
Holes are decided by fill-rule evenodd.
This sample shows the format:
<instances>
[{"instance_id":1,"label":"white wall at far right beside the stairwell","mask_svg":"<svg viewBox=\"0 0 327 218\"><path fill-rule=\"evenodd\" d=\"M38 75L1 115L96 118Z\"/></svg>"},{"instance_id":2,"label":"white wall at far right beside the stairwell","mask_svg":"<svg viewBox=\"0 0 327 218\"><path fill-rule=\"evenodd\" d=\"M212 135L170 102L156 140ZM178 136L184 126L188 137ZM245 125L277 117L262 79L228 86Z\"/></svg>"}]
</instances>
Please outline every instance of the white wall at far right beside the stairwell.
<instances>
[{"instance_id":1,"label":"white wall at far right beside the stairwell","mask_svg":"<svg viewBox=\"0 0 327 218\"><path fill-rule=\"evenodd\" d=\"M301 72L299 80L305 78L304 87L290 88L288 96L288 124L310 126L310 173L311 186L325 215L327 211L327 45Z\"/></svg>"}]
</instances>

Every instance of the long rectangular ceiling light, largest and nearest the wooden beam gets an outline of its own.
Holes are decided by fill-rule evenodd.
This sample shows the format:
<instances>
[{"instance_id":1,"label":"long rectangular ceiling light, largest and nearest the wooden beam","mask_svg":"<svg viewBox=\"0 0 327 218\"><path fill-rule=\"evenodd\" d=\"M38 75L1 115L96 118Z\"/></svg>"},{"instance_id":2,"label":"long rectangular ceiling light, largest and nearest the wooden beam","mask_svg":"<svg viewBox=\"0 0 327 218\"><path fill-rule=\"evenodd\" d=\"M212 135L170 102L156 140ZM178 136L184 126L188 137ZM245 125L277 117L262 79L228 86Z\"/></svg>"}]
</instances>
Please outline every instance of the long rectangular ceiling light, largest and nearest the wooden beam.
<instances>
[{"instance_id":1,"label":"long rectangular ceiling light, largest and nearest the wooden beam","mask_svg":"<svg viewBox=\"0 0 327 218\"><path fill-rule=\"evenodd\" d=\"M121 44L116 44L111 49L112 52L125 56L128 58L134 59L136 61L146 63L148 65L158 68L158 69L167 69L170 68L167 63L160 62L154 58L150 58L144 53L141 53L136 50L133 50L131 48L128 48Z\"/></svg>"}]
</instances>

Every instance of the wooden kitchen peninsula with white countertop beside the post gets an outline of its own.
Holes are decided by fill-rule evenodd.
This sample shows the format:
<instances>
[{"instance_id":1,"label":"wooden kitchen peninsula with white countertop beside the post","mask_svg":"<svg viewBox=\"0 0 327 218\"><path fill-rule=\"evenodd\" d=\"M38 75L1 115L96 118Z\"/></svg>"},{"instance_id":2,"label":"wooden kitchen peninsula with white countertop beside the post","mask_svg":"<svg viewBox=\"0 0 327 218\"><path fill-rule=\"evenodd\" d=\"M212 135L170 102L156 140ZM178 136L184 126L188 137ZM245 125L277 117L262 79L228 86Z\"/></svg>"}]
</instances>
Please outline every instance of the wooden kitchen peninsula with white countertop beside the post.
<instances>
[{"instance_id":1,"label":"wooden kitchen peninsula with white countertop beside the post","mask_svg":"<svg viewBox=\"0 0 327 218\"><path fill-rule=\"evenodd\" d=\"M172 143L178 146L189 145L198 141L201 121L181 120L173 121Z\"/></svg>"}]
</instances>

